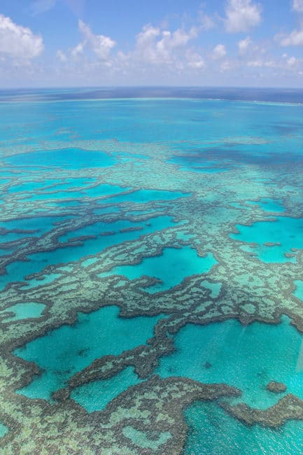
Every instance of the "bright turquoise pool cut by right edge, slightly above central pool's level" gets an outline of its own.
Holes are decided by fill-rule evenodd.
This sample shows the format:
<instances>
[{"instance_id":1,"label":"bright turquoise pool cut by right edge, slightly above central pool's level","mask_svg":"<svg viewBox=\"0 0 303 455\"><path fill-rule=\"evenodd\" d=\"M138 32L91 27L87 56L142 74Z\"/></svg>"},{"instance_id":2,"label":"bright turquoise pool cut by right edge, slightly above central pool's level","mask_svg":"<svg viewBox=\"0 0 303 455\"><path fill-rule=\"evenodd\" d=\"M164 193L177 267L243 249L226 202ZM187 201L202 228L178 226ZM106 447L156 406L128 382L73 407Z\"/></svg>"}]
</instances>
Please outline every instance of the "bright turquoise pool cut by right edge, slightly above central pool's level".
<instances>
[{"instance_id":1,"label":"bright turquoise pool cut by right edge, slightly above central pool's level","mask_svg":"<svg viewBox=\"0 0 303 455\"><path fill-rule=\"evenodd\" d=\"M287 258L285 253L292 253L291 248L303 248L303 218L281 216L251 226L236 225L236 228L239 233L230 234L230 237L255 243L255 248L248 246L248 249L263 262L294 262L295 258ZM267 246L266 243L276 245Z\"/></svg>"}]
</instances>

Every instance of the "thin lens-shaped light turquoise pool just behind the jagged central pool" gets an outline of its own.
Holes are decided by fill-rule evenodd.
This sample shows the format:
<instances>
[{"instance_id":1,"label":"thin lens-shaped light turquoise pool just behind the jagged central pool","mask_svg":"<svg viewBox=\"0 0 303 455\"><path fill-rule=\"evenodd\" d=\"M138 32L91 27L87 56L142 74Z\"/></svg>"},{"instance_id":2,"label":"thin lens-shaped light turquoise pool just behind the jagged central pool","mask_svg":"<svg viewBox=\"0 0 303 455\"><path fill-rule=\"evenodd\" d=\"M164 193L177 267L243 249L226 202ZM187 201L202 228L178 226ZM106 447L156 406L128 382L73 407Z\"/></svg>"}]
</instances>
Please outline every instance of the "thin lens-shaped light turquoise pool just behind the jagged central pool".
<instances>
[{"instance_id":1,"label":"thin lens-shaped light turquoise pool just behind the jagged central pool","mask_svg":"<svg viewBox=\"0 0 303 455\"><path fill-rule=\"evenodd\" d=\"M190 196L190 193L181 193L181 191L164 191L164 190L136 190L133 193L126 195L116 195L108 197L106 202L134 202L136 204L143 204L145 202L153 202L157 200L174 200L179 197ZM104 202L104 201L102 201Z\"/></svg>"}]
</instances>

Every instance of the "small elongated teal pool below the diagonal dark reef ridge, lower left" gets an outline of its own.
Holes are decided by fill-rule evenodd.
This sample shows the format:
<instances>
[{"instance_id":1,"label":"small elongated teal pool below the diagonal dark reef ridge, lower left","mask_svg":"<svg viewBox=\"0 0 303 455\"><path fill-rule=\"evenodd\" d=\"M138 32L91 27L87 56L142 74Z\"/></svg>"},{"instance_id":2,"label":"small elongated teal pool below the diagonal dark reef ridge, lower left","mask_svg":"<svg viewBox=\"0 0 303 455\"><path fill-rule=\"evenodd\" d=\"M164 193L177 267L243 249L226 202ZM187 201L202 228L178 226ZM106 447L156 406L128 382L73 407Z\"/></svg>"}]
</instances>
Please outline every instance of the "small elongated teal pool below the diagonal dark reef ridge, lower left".
<instances>
[{"instance_id":1,"label":"small elongated teal pool below the diagonal dark reef ridge, lower left","mask_svg":"<svg viewBox=\"0 0 303 455\"><path fill-rule=\"evenodd\" d=\"M92 381L74 388L71 398L85 407L88 412L101 411L113 398L141 381L135 374L134 368L127 367L109 379Z\"/></svg>"}]
</instances>

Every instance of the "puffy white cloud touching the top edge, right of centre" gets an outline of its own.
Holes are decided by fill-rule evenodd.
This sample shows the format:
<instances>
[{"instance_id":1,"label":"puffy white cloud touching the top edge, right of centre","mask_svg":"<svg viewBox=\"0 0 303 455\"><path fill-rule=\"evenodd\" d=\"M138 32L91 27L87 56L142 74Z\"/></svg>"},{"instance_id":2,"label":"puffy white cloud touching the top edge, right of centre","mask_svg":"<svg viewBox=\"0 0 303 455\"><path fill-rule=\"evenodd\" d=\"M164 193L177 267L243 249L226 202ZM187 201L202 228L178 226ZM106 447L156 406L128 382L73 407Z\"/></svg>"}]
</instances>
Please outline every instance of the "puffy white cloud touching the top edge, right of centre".
<instances>
[{"instance_id":1,"label":"puffy white cloud touching the top edge, right of centre","mask_svg":"<svg viewBox=\"0 0 303 455\"><path fill-rule=\"evenodd\" d=\"M229 33L247 31L261 22L261 6L251 0L228 0L225 29Z\"/></svg>"}]
</instances>

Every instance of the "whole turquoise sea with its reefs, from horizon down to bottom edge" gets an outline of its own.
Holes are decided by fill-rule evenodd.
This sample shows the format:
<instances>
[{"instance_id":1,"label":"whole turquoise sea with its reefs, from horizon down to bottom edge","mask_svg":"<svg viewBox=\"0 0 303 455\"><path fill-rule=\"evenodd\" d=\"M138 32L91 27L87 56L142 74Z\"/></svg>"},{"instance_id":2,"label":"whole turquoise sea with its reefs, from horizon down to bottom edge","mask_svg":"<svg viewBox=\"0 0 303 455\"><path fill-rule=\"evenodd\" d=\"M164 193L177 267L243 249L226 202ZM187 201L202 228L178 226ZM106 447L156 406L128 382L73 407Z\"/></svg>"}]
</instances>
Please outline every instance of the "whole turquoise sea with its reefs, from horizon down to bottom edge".
<instances>
[{"instance_id":1,"label":"whole turquoise sea with its reefs, from horizon down to bottom edge","mask_svg":"<svg viewBox=\"0 0 303 455\"><path fill-rule=\"evenodd\" d=\"M0 90L0 454L302 454L302 144L302 90Z\"/></svg>"}]
</instances>

